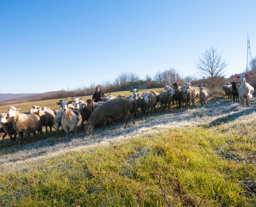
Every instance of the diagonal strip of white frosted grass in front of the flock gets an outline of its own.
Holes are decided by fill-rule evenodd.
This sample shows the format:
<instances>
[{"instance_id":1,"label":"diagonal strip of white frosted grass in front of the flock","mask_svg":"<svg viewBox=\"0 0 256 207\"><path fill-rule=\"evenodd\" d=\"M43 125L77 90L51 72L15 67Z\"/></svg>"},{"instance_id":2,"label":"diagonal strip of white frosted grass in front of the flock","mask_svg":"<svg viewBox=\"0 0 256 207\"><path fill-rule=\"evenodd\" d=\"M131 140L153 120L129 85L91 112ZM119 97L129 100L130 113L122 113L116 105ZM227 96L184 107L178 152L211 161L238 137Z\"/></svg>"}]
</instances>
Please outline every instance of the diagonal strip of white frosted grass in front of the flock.
<instances>
[{"instance_id":1,"label":"diagonal strip of white frosted grass in front of the flock","mask_svg":"<svg viewBox=\"0 0 256 207\"><path fill-rule=\"evenodd\" d=\"M250 107L242 107L239 103L228 102L227 100L210 100L205 107L196 106L192 109L181 110L172 108L171 112L158 110L150 117L141 116L135 119L135 125L130 121L128 128L123 129L125 123L116 123L116 130L111 126L106 127L103 132L102 127L95 130L93 135L86 136L84 132L78 136L65 139L62 133L56 140L48 138L37 140L27 145L22 145L18 149L14 146L5 147L0 152L0 170L8 172L12 170L28 168L35 163L42 163L45 160L53 159L61 153L71 150L90 151L94 147L111 145L116 142L126 142L134 139L138 134L154 134L170 128L182 128L193 126L218 126L224 123L221 130L229 130L233 127L241 126L241 123L255 122L255 98L250 102Z\"/></svg>"}]
</instances>

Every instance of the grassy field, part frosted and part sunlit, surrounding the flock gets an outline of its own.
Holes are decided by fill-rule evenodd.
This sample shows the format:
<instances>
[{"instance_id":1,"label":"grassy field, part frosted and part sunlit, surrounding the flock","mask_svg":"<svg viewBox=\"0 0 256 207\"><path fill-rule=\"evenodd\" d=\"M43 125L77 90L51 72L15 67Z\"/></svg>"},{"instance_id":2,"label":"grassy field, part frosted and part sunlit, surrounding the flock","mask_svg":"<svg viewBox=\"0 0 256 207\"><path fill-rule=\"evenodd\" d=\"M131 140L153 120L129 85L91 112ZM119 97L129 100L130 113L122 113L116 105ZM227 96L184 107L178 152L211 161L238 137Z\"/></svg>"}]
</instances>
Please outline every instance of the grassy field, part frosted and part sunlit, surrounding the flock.
<instances>
[{"instance_id":1,"label":"grassy field, part frosted and part sunlit, surrounding the flock","mask_svg":"<svg viewBox=\"0 0 256 207\"><path fill-rule=\"evenodd\" d=\"M43 102L58 109L58 100ZM42 102L21 105L28 111ZM7 138L0 205L255 206L255 107L254 97L250 107L217 98L205 107L196 101L189 110L140 113L127 129L119 122L91 136L81 130L67 140L54 131L21 146Z\"/></svg>"}]
</instances>

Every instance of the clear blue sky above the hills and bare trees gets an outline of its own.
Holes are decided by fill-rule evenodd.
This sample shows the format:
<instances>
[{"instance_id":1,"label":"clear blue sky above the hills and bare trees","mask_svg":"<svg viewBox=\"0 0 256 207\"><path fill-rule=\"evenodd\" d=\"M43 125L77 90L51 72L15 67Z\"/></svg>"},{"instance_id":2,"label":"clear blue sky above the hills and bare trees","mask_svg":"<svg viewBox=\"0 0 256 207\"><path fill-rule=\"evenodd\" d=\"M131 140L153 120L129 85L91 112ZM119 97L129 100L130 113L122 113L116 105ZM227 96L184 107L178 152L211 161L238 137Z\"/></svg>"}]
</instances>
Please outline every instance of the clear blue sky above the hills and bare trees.
<instances>
[{"instance_id":1,"label":"clear blue sky above the hills and bare trees","mask_svg":"<svg viewBox=\"0 0 256 207\"><path fill-rule=\"evenodd\" d=\"M256 1L0 1L0 93L42 93L197 71L206 48L244 71L256 56Z\"/></svg>"}]
</instances>

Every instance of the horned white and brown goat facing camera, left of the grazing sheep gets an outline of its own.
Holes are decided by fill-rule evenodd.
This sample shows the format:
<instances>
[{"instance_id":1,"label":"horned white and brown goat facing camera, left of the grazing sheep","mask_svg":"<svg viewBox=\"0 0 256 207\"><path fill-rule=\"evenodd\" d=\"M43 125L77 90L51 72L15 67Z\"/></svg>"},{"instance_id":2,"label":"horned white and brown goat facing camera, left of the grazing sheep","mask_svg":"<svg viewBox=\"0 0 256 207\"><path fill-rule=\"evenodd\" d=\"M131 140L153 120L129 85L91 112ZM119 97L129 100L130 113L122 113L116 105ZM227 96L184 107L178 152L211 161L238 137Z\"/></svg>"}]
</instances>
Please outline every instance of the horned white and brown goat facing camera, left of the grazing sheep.
<instances>
[{"instance_id":1,"label":"horned white and brown goat facing camera, left of the grazing sheep","mask_svg":"<svg viewBox=\"0 0 256 207\"><path fill-rule=\"evenodd\" d=\"M69 98L69 97L68 97ZM63 110L63 116L61 120L62 129L66 133L66 137L68 139L68 133L72 136L71 132L75 130L75 136L77 133L78 128L82 123L81 114L77 110L72 110L69 108L68 104L71 104L73 101L60 100L57 104L61 105Z\"/></svg>"}]
</instances>

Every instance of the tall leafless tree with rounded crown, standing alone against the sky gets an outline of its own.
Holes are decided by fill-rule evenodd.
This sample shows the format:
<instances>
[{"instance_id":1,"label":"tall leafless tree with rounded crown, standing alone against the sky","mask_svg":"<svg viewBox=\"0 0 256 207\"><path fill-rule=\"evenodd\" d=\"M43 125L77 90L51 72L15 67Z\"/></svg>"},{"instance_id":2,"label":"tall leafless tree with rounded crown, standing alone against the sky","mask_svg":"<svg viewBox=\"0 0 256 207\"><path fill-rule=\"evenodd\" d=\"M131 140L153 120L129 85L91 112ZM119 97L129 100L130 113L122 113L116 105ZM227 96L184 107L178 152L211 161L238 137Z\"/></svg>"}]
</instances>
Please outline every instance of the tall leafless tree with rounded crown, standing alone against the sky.
<instances>
[{"instance_id":1,"label":"tall leafless tree with rounded crown, standing alone against the sky","mask_svg":"<svg viewBox=\"0 0 256 207\"><path fill-rule=\"evenodd\" d=\"M214 88L219 86L220 78L224 78L225 67L228 61L223 59L222 53L218 53L217 48L206 49L196 62L196 67L199 69L198 76L208 80L208 86ZM218 81L217 81L218 80Z\"/></svg>"}]
</instances>

